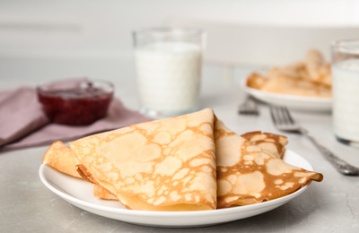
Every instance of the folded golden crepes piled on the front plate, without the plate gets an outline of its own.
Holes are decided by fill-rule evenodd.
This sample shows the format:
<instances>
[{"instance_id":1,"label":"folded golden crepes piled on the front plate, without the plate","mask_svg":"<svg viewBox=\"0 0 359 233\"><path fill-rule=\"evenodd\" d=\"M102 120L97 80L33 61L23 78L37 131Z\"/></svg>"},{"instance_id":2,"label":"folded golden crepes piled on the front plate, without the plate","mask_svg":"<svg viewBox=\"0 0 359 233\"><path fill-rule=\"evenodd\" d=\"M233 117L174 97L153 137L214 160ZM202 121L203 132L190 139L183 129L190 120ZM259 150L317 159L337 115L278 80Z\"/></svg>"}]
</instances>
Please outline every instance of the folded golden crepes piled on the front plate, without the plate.
<instances>
[{"instance_id":1,"label":"folded golden crepes piled on the front plate, without the plate","mask_svg":"<svg viewBox=\"0 0 359 233\"><path fill-rule=\"evenodd\" d=\"M286 143L276 134L235 134L206 108L70 146L54 142L42 162L94 183L95 196L127 209L203 211L265 202L321 181L320 173L281 159Z\"/></svg>"}]
</instances>

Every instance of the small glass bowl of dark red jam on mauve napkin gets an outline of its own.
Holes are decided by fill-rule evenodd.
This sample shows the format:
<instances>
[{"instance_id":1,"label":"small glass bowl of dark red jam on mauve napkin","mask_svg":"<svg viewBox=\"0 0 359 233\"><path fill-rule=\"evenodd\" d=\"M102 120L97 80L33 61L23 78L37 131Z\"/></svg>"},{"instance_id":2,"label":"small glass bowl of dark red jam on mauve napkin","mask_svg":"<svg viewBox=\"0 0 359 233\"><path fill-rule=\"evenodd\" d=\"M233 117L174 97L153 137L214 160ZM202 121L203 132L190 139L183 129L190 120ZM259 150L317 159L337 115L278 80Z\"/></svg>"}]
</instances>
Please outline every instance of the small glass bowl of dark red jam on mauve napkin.
<instances>
[{"instance_id":1,"label":"small glass bowl of dark red jam on mauve napkin","mask_svg":"<svg viewBox=\"0 0 359 233\"><path fill-rule=\"evenodd\" d=\"M51 82L37 88L48 118L63 125L90 125L107 115L114 87L87 78Z\"/></svg>"}]
</instances>

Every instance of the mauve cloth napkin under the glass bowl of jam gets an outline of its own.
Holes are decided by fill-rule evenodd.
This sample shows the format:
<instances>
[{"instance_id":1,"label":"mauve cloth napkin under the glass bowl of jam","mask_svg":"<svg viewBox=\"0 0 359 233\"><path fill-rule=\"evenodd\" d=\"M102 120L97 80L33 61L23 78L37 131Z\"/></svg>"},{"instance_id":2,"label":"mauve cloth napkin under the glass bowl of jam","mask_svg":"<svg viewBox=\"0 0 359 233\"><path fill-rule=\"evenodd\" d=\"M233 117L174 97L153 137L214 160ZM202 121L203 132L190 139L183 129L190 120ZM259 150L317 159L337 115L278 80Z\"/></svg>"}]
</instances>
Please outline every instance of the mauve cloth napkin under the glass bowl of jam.
<instances>
[{"instance_id":1,"label":"mauve cloth napkin under the glass bowl of jam","mask_svg":"<svg viewBox=\"0 0 359 233\"><path fill-rule=\"evenodd\" d=\"M57 140L72 141L89 134L150 120L137 111L125 108L119 99L114 98L109 105L108 115L92 125L59 125L50 123L42 112L35 88L1 91L0 151L46 145Z\"/></svg>"}]
</instances>

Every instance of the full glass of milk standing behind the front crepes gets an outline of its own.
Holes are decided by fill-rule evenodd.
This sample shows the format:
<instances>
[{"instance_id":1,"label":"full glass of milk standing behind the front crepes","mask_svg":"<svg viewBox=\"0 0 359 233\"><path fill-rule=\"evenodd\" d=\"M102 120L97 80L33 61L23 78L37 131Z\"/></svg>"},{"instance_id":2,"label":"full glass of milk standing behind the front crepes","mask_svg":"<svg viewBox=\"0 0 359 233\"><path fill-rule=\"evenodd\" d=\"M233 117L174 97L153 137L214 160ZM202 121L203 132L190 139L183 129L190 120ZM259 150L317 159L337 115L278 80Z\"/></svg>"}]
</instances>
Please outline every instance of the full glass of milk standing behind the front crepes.
<instances>
[{"instance_id":1,"label":"full glass of milk standing behind the front crepes","mask_svg":"<svg viewBox=\"0 0 359 233\"><path fill-rule=\"evenodd\" d=\"M133 33L140 110L157 118L196 111L206 33L153 28Z\"/></svg>"}]
</instances>

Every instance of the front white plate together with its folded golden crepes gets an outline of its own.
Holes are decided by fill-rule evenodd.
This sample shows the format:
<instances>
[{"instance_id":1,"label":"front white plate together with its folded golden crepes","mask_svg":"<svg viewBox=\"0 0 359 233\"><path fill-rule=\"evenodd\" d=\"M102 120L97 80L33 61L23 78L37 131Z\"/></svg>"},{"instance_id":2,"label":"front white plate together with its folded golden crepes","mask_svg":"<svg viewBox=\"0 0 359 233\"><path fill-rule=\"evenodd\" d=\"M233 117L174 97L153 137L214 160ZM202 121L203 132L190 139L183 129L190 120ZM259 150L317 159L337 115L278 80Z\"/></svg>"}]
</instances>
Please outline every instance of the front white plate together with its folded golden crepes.
<instances>
[{"instance_id":1,"label":"front white plate together with its folded golden crepes","mask_svg":"<svg viewBox=\"0 0 359 233\"><path fill-rule=\"evenodd\" d=\"M211 108L54 142L39 177L92 213L188 228L241 220L302 194L322 174L283 135L235 134Z\"/></svg>"}]
</instances>

